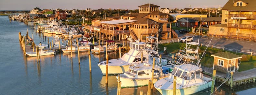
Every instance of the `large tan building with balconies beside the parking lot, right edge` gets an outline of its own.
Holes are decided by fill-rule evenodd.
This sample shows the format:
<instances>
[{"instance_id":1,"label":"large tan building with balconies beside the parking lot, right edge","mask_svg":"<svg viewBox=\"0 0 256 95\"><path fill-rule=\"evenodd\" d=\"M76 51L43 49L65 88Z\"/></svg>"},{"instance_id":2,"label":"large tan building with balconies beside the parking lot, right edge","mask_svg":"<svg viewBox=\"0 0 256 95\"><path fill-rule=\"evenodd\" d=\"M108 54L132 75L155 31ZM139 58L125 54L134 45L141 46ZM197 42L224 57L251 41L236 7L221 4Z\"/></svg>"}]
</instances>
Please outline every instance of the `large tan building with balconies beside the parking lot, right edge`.
<instances>
[{"instance_id":1,"label":"large tan building with balconies beside the parking lot, right edge","mask_svg":"<svg viewBox=\"0 0 256 95\"><path fill-rule=\"evenodd\" d=\"M256 0L229 0L222 7L221 25L209 27L209 36L256 41Z\"/></svg>"}]
</instances>

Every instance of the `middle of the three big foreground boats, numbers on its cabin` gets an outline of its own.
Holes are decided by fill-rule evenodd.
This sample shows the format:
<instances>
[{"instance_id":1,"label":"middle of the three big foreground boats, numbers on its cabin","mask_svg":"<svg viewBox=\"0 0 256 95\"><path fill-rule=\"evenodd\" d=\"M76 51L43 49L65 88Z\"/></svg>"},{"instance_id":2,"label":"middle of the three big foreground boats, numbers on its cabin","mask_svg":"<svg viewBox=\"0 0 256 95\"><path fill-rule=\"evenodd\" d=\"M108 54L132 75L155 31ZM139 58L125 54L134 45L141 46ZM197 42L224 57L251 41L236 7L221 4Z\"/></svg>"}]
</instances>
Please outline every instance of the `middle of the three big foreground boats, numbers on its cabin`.
<instances>
[{"instance_id":1,"label":"middle of the three big foreground boats, numbers on its cabin","mask_svg":"<svg viewBox=\"0 0 256 95\"><path fill-rule=\"evenodd\" d=\"M157 39L156 37L146 38L149 39L148 41ZM152 79L152 75L154 76L152 82L155 83L155 81L159 79L168 77L168 75L175 66L172 63L167 63L166 59L159 58L157 51L157 40L155 41L155 44L147 44L146 46L144 46L141 51L147 52L149 57L146 59L145 62L137 61L131 64L128 71L119 75L120 81L122 81L121 88L148 85L148 81ZM155 64L153 64L153 58L155 58ZM153 66L154 74L152 74ZM116 78L119 79L119 76L116 76Z\"/></svg>"}]
</instances>

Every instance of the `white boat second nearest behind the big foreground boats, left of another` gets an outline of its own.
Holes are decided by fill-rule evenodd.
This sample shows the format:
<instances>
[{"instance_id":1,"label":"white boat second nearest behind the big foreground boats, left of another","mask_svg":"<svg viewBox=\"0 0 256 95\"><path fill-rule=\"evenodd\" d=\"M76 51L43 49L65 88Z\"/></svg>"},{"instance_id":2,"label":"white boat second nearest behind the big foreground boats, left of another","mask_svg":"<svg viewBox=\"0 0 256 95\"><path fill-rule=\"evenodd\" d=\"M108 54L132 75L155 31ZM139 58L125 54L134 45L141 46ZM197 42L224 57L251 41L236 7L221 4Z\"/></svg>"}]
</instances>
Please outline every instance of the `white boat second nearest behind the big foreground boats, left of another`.
<instances>
[{"instance_id":1,"label":"white boat second nearest behind the big foreground boats, left of another","mask_svg":"<svg viewBox=\"0 0 256 95\"><path fill-rule=\"evenodd\" d=\"M71 46L66 46L66 48L61 49L64 53L70 53L71 52ZM90 50L90 46L89 45L80 45L79 46L79 51L88 51ZM77 45L72 45L72 52L78 52L78 47Z\"/></svg>"}]
</instances>

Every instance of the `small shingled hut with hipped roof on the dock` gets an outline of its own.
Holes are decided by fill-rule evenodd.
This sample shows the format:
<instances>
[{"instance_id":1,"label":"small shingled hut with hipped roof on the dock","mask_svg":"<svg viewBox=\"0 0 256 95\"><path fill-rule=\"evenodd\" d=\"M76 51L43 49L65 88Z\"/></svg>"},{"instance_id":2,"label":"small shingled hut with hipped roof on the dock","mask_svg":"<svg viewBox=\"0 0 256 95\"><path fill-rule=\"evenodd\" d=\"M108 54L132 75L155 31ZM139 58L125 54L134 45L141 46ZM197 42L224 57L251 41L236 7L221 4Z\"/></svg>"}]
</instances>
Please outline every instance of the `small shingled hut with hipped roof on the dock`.
<instances>
[{"instance_id":1,"label":"small shingled hut with hipped roof on the dock","mask_svg":"<svg viewBox=\"0 0 256 95\"><path fill-rule=\"evenodd\" d=\"M238 71L238 64L240 63L240 58L242 58L239 55L227 51L212 54L211 56L214 57L213 69L224 73Z\"/></svg>"}]
</instances>

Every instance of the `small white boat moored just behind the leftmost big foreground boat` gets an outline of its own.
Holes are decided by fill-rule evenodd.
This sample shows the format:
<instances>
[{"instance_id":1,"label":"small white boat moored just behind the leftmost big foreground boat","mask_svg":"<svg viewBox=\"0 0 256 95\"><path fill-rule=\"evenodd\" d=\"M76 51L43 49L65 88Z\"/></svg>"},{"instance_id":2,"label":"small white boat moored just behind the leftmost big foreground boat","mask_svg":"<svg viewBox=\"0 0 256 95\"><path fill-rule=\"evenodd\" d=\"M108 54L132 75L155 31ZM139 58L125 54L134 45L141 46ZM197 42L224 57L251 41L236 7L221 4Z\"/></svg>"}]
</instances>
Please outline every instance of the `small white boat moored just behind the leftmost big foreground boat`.
<instances>
[{"instance_id":1,"label":"small white boat moored just behind the leftmost big foreground boat","mask_svg":"<svg viewBox=\"0 0 256 95\"><path fill-rule=\"evenodd\" d=\"M106 52L106 48L107 48L107 45L104 45L104 46L100 46L100 53L103 53L103 52ZM117 45L108 45L108 52L109 51L114 51L117 48ZM98 54L99 53L99 46L94 46L93 49L91 49L91 52L95 53L95 54Z\"/></svg>"}]
</instances>

